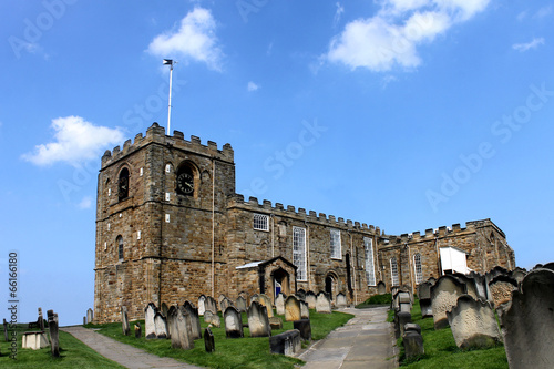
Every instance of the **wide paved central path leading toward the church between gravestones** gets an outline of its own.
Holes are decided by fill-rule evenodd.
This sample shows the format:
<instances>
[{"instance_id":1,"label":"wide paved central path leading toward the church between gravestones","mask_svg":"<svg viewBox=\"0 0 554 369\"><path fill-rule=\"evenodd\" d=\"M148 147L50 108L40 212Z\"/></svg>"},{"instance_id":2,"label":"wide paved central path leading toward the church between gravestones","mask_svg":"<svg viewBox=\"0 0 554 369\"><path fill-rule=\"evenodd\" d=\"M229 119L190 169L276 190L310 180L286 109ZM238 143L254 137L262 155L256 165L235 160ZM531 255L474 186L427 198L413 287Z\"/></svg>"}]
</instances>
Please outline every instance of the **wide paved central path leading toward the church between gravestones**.
<instances>
[{"instance_id":1,"label":"wide paved central path leading toward the church between gravestones","mask_svg":"<svg viewBox=\"0 0 554 369\"><path fill-rule=\"evenodd\" d=\"M304 369L397 368L391 324L387 307L340 309L356 315L343 327L331 331L298 356L306 361Z\"/></svg>"}]
</instances>

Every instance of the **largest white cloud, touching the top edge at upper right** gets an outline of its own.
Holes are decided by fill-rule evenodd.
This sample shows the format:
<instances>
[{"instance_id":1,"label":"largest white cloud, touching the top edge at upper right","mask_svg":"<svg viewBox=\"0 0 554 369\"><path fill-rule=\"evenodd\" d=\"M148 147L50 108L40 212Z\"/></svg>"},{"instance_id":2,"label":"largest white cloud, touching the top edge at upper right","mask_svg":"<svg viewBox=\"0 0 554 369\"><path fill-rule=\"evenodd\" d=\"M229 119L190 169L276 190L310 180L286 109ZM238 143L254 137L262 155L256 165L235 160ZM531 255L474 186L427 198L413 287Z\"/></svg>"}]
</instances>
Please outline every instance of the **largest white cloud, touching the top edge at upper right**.
<instances>
[{"instance_id":1,"label":"largest white cloud, touching the top edge at upper right","mask_svg":"<svg viewBox=\"0 0 554 369\"><path fill-rule=\"evenodd\" d=\"M389 71L421 64L418 47L483 11L490 0L382 0L372 18L357 19L331 39L324 59L353 69Z\"/></svg>"}]
</instances>

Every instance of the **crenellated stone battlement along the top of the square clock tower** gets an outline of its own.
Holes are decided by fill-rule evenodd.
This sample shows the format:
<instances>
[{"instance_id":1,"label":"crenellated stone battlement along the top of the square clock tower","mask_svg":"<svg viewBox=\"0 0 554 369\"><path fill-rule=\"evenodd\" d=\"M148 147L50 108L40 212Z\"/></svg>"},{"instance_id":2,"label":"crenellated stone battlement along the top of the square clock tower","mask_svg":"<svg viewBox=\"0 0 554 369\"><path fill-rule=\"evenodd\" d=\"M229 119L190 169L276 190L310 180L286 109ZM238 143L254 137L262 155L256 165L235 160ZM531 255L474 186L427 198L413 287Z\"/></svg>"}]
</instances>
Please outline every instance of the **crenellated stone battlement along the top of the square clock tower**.
<instances>
[{"instance_id":1,"label":"crenellated stone battlement along the top of the square clock tower","mask_svg":"<svg viewBox=\"0 0 554 369\"><path fill-rule=\"evenodd\" d=\"M235 160L235 153L228 143L223 145L222 150L218 150L215 142L208 141L207 145L203 145L201 139L197 136L192 135L191 141L187 141L183 132L179 131L173 131L173 136L168 136L165 134L165 129L154 122L146 130L146 136L138 133L135 135L134 142L126 140L123 143L123 150L120 146L114 147L112 151L107 150L102 156L102 167L113 164L122 157L152 143L215 157L225 162L234 162Z\"/></svg>"}]
</instances>

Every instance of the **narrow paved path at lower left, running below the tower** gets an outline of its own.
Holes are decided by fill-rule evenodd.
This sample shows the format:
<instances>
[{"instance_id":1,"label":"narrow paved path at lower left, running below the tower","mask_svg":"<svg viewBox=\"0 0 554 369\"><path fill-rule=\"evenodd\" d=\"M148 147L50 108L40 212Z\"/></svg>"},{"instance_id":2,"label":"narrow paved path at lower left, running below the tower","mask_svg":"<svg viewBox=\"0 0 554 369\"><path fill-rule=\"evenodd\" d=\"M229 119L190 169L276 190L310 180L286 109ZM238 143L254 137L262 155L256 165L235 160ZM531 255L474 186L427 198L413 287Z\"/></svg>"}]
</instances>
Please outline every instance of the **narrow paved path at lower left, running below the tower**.
<instances>
[{"instance_id":1,"label":"narrow paved path at lower left, running below the tower","mask_svg":"<svg viewBox=\"0 0 554 369\"><path fill-rule=\"evenodd\" d=\"M63 327L60 329L73 335L76 339L83 341L86 346L103 357L126 368L199 368L172 358L161 358L155 355L147 353L133 346L121 344L110 337L81 326Z\"/></svg>"}]
</instances>

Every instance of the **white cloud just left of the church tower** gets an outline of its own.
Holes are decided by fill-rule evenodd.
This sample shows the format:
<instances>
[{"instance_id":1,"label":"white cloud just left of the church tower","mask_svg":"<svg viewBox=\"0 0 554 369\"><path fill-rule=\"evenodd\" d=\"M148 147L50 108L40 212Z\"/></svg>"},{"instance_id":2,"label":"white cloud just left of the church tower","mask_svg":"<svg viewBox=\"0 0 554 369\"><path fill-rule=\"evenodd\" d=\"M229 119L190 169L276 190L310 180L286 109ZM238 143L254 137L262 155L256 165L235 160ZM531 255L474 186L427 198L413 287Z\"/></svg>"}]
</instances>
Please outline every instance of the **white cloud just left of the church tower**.
<instances>
[{"instance_id":1,"label":"white cloud just left of the church tower","mask_svg":"<svg viewBox=\"0 0 554 369\"><path fill-rule=\"evenodd\" d=\"M66 116L52 120L54 142L38 145L33 153L22 157L35 165L47 166L66 162L80 166L90 160L98 160L102 150L124 140L119 129L96 126L81 116Z\"/></svg>"}]
</instances>

